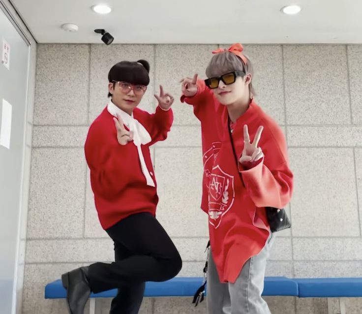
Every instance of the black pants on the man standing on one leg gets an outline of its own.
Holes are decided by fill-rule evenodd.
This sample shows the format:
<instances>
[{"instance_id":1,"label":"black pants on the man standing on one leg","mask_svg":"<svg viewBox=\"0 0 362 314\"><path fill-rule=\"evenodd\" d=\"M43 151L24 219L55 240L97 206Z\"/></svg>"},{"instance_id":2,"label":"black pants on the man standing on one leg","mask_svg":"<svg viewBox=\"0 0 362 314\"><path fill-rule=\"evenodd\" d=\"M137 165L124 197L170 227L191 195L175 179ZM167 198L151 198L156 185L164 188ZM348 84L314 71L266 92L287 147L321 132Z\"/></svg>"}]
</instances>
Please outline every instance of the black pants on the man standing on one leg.
<instances>
[{"instance_id":1,"label":"black pants on the man standing on one leg","mask_svg":"<svg viewBox=\"0 0 362 314\"><path fill-rule=\"evenodd\" d=\"M181 270L179 252L160 223L149 213L135 214L107 230L115 244L115 262L89 267L92 292L118 288L110 314L137 314L145 282L162 282Z\"/></svg>"}]
</instances>

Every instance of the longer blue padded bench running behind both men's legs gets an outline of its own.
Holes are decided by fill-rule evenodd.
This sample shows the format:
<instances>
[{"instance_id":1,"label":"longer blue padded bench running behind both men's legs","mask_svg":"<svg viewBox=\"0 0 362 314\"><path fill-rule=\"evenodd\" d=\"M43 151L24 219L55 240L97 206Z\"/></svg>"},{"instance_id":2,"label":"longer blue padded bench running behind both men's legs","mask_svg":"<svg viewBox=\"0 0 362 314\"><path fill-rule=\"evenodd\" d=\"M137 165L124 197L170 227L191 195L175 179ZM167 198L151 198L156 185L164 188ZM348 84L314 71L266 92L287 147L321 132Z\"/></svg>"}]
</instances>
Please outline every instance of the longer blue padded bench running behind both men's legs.
<instances>
[{"instance_id":1,"label":"longer blue padded bench running behind both men's legs","mask_svg":"<svg viewBox=\"0 0 362 314\"><path fill-rule=\"evenodd\" d=\"M193 297L202 283L203 278L201 277L178 277L162 283L148 282L146 283L145 297ZM95 300L97 298L114 298L116 294L116 289L97 294L92 293L90 297L90 314L95 313ZM298 296L298 284L286 277L266 277L263 295ZM48 283L45 286L45 298L66 298L66 290L60 280Z\"/></svg>"}]
</instances>

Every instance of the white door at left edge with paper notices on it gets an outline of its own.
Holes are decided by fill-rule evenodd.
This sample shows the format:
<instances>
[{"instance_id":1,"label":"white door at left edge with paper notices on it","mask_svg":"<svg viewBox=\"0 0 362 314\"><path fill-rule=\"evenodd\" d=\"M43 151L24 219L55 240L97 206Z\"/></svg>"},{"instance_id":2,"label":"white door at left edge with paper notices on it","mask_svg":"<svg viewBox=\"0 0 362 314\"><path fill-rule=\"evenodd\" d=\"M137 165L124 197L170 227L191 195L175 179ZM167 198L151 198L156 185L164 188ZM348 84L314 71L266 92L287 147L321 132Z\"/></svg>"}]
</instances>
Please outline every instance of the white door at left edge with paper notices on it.
<instances>
[{"instance_id":1,"label":"white door at left edge with paper notices on it","mask_svg":"<svg viewBox=\"0 0 362 314\"><path fill-rule=\"evenodd\" d=\"M0 45L0 313L11 314L15 309L30 46L1 5ZM7 47L9 53L3 58Z\"/></svg>"}]
</instances>

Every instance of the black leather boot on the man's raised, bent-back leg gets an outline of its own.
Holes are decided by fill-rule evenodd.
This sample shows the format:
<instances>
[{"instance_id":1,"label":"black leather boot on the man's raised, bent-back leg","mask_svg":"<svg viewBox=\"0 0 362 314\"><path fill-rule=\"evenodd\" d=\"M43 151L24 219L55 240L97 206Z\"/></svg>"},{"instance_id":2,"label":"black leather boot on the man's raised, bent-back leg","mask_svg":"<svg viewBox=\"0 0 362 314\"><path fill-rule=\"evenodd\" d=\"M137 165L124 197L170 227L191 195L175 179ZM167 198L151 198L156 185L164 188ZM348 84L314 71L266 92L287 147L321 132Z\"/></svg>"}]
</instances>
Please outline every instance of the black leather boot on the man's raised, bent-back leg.
<instances>
[{"instance_id":1,"label":"black leather boot on the man's raised, bent-back leg","mask_svg":"<svg viewBox=\"0 0 362 314\"><path fill-rule=\"evenodd\" d=\"M84 308L91 294L88 282L88 268L77 268L61 275L61 282L67 290L66 303L69 314L84 314Z\"/></svg>"}]
</instances>

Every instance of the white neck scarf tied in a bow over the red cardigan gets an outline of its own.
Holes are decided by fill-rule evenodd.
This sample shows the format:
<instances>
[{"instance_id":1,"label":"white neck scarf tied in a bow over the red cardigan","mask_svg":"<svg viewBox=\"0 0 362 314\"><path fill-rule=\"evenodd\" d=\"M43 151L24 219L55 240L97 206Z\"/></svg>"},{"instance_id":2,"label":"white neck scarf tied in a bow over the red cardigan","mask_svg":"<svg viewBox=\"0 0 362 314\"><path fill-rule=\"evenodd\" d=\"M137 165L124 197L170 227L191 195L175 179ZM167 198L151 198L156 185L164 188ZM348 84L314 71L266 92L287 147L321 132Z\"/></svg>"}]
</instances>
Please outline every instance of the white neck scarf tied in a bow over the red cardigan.
<instances>
[{"instance_id":1,"label":"white neck scarf tied in a bow over the red cardigan","mask_svg":"<svg viewBox=\"0 0 362 314\"><path fill-rule=\"evenodd\" d=\"M132 116L130 116L129 114L118 108L112 101L108 103L107 110L111 115L115 116L116 118L117 114L120 115L124 125L127 126L130 131L133 131L133 143L137 147L138 157L140 159L142 172L146 178L147 185L154 187L155 186L154 182L147 169L145 158L143 157L141 149L141 144L145 145L151 142L150 133L146 130L146 128L143 125L141 125L138 122L138 120L133 118L133 113Z\"/></svg>"}]
</instances>

